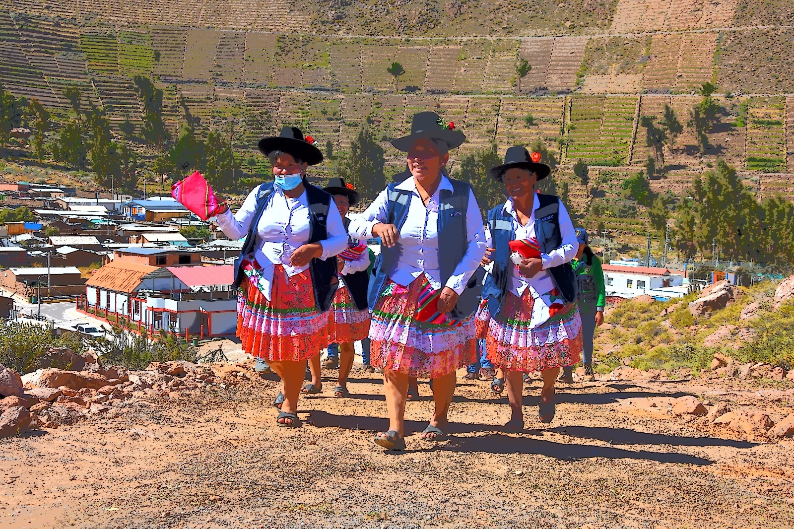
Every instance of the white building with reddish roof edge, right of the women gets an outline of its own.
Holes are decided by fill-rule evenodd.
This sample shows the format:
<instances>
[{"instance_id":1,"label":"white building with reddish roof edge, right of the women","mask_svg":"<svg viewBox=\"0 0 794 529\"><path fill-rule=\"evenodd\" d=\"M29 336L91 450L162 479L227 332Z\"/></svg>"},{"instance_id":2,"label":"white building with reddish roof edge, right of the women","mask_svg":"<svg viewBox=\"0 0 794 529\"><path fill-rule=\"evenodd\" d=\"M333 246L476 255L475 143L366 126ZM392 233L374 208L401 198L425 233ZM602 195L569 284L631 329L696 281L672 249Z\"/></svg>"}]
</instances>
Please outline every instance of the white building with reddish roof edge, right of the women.
<instances>
[{"instance_id":1,"label":"white building with reddish roof edge, right of the women","mask_svg":"<svg viewBox=\"0 0 794 529\"><path fill-rule=\"evenodd\" d=\"M684 276L670 272L668 268L603 264L603 282L607 296L619 298L647 294L666 300L681 298L688 293Z\"/></svg>"}]
</instances>

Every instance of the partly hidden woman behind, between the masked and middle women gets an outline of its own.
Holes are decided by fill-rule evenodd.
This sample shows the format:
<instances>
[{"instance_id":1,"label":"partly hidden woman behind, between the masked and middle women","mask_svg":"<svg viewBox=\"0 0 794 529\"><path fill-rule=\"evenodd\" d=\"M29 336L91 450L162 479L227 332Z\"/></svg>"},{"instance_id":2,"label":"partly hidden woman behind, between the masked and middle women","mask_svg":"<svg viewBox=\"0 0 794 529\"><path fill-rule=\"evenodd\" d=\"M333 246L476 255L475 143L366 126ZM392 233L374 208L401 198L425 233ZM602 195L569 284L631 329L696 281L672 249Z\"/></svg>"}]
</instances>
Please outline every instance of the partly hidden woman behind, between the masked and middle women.
<instances>
[{"instance_id":1,"label":"partly hidden woman behind, between the masked and middle women","mask_svg":"<svg viewBox=\"0 0 794 529\"><path fill-rule=\"evenodd\" d=\"M345 229L350 224L346 217L350 207L355 206L361 195L355 187L346 184L341 178L332 178L324 191L333 196ZM369 284L369 251L366 242L359 242L353 237L348 240L348 247L338 256L339 288L333 297L331 310L328 313L328 343L339 346L339 376L333 388L333 396L345 397L350 394L347 388L350 369L356 357L355 343L367 338L369 334L369 307L367 305L367 287ZM312 382L303 386L304 393L320 392L320 357L312 357L310 362Z\"/></svg>"}]
</instances>

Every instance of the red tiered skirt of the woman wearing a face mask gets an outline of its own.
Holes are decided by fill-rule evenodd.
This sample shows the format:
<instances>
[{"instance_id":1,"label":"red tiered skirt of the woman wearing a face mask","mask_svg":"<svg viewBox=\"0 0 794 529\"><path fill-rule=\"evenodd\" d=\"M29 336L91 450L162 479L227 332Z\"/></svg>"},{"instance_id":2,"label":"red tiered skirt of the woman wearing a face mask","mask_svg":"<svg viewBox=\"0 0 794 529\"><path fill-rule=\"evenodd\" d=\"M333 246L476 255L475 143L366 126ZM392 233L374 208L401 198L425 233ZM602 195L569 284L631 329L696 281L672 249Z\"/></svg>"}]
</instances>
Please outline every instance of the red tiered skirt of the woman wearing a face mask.
<instances>
[{"instance_id":1,"label":"red tiered skirt of the woman wearing a face mask","mask_svg":"<svg viewBox=\"0 0 794 529\"><path fill-rule=\"evenodd\" d=\"M328 345L328 314L318 311L309 271L287 276L273 270L270 301L260 290L260 268L241 265L245 280L237 296L237 336L243 350L266 361L303 361Z\"/></svg>"}]
</instances>

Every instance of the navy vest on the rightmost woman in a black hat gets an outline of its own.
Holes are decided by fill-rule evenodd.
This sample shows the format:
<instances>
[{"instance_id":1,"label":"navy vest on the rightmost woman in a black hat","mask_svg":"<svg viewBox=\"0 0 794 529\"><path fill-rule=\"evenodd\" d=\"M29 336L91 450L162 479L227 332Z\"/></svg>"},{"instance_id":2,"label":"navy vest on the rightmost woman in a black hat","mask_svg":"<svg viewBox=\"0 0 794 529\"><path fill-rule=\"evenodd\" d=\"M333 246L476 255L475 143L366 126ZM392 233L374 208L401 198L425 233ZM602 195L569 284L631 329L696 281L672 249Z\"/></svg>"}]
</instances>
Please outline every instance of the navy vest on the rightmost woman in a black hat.
<instances>
[{"instance_id":1,"label":"navy vest on the rightmost woman in a black hat","mask_svg":"<svg viewBox=\"0 0 794 529\"><path fill-rule=\"evenodd\" d=\"M554 195L538 195L540 207L535 210L535 237L538 237L538 246L541 253L549 253L562 245L560 232L560 199ZM488 311L492 315L499 313L504 299L507 296L507 280L510 277L510 268L515 264L510 261L509 243L515 238L513 218L504 212L504 206L497 206L488 211L488 229L495 252L491 256L493 269L485 279L483 297L488 298ZM576 301L578 284L576 274L570 263L563 263L547 270L552 282L560 291L561 298L566 303Z\"/></svg>"}]
</instances>

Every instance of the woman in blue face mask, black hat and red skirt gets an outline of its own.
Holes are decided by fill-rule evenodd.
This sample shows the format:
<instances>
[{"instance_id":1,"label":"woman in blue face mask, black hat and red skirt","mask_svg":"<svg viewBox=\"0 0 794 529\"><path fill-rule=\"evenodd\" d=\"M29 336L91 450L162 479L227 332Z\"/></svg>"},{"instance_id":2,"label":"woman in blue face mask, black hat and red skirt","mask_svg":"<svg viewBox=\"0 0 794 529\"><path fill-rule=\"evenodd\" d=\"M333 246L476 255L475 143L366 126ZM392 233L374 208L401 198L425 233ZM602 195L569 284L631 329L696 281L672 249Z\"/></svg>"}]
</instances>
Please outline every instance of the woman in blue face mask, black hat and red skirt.
<instances>
[{"instance_id":1,"label":"woman in blue face mask, black hat and red skirt","mask_svg":"<svg viewBox=\"0 0 794 529\"><path fill-rule=\"evenodd\" d=\"M297 127L260 140L275 180L255 187L236 214L229 207L218 214L227 237L246 237L234 272L237 336L283 380L280 427L299 426L306 360L328 345L336 255L348 241L333 197L306 181L306 168L322 161L313 143Z\"/></svg>"}]
</instances>

